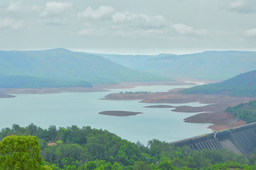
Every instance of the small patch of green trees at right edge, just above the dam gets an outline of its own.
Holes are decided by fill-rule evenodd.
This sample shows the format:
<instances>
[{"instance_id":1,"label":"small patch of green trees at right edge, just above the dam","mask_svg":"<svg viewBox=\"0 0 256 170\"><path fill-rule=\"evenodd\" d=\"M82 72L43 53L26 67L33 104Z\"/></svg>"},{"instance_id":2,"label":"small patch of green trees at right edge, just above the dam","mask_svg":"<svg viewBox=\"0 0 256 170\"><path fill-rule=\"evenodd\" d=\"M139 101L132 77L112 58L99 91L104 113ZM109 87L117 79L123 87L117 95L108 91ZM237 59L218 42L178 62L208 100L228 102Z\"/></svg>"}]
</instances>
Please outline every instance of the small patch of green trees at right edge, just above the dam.
<instances>
[{"instance_id":1,"label":"small patch of green trees at right edge, just above the dam","mask_svg":"<svg viewBox=\"0 0 256 170\"><path fill-rule=\"evenodd\" d=\"M238 117L248 124L256 122L256 101L241 103L235 107L228 107L225 112L232 113L235 118Z\"/></svg>"}]
</instances>

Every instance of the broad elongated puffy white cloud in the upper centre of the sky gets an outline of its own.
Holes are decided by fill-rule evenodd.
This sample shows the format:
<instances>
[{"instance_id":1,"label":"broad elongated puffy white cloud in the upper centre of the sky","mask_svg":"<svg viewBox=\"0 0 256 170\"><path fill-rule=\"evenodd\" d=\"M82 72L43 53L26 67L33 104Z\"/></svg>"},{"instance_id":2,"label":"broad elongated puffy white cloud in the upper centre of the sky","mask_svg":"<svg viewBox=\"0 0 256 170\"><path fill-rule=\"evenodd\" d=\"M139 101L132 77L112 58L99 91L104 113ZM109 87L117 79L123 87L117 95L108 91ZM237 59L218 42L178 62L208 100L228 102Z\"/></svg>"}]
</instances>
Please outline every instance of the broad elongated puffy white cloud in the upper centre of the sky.
<instances>
[{"instance_id":1,"label":"broad elongated puffy white cloud in the upper centre of the sky","mask_svg":"<svg viewBox=\"0 0 256 170\"><path fill-rule=\"evenodd\" d=\"M154 17L149 17L148 15L142 14L132 14L129 12L119 13L116 12L112 16L112 20L116 24L127 24L133 27L140 27L140 28L162 28L165 26L165 19L161 15L157 15Z\"/></svg>"}]
</instances>

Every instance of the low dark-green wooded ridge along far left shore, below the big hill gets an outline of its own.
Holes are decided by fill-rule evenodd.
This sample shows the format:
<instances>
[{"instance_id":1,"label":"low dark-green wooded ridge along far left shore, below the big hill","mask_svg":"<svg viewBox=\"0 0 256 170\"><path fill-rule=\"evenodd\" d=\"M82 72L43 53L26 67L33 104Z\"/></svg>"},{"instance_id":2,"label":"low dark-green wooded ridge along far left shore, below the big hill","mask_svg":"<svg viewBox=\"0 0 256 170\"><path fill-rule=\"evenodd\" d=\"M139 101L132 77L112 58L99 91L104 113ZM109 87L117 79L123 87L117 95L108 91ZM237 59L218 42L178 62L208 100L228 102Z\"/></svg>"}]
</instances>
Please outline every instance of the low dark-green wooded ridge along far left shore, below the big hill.
<instances>
[{"instance_id":1,"label":"low dark-green wooded ridge along far left shore, below the big hill","mask_svg":"<svg viewBox=\"0 0 256 170\"><path fill-rule=\"evenodd\" d=\"M86 81L66 81L31 76L0 75L0 88L92 87Z\"/></svg>"}]
</instances>

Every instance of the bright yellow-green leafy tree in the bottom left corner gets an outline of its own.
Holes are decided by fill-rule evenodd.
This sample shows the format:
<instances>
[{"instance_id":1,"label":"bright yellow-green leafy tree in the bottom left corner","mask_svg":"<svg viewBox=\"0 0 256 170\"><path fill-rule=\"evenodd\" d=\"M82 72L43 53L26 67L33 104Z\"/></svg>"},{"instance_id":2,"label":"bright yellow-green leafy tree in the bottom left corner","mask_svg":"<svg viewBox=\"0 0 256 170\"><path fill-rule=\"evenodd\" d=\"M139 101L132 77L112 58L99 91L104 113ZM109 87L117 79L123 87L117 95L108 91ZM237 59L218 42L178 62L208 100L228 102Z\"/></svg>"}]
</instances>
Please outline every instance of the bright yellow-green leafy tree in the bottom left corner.
<instances>
[{"instance_id":1,"label":"bright yellow-green leafy tree in the bottom left corner","mask_svg":"<svg viewBox=\"0 0 256 170\"><path fill-rule=\"evenodd\" d=\"M39 170L42 158L36 136L7 136L0 142L0 169Z\"/></svg>"}]
</instances>

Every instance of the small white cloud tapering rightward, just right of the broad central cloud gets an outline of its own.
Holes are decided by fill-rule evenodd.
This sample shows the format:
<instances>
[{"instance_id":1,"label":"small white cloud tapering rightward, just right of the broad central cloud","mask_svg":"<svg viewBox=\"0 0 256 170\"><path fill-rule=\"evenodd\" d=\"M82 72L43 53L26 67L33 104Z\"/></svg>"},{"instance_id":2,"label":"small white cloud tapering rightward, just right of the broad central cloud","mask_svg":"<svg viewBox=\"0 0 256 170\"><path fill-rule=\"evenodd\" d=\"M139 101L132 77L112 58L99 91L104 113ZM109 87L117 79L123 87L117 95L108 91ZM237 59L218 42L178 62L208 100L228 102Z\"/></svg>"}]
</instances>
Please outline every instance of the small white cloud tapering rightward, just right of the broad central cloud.
<instances>
[{"instance_id":1,"label":"small white cloud tapering rightward, just right of the broad central cloud","mask_svg":"<svg viewBox=\"0 0 256 170\"><path fill-rule=\"evenodd\" d=\"M193 27L187 26L185 24L171 24L171 28L180 35L206 35L208 31L205 29L195 30Z\"/></svg>"}]
</instances>

